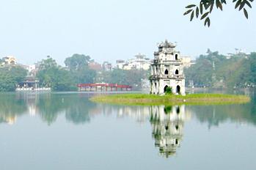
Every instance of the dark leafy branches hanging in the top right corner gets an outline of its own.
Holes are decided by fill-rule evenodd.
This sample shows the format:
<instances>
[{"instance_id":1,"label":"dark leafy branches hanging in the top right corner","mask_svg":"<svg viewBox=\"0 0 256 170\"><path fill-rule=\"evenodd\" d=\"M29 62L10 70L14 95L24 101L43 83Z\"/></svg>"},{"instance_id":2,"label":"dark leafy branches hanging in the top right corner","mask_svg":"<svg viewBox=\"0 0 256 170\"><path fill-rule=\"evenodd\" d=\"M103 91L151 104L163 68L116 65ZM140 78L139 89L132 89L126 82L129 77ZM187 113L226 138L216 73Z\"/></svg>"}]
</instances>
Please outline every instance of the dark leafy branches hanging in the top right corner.
<instances>
[{"instance_id":1,"label":"dark leafy branches hanging in the top right corner","mask_svg":"<svg viewBox=\"0 0 256 170\"><path fill-rule=\"evenodd\" d=\"M248 19L248 12L246 7L252 8L252 1L254 0L233 0L235 9L244 11L244 16ZM213 8L223 10L223 5L227 4L226 0L201 0L199 5L189 4L187 11L183 15L190 15L190 21L193 21L194 16L204 20L205 26L211 25L210 14L213 12Z\"/></svg>"}]
</instances>

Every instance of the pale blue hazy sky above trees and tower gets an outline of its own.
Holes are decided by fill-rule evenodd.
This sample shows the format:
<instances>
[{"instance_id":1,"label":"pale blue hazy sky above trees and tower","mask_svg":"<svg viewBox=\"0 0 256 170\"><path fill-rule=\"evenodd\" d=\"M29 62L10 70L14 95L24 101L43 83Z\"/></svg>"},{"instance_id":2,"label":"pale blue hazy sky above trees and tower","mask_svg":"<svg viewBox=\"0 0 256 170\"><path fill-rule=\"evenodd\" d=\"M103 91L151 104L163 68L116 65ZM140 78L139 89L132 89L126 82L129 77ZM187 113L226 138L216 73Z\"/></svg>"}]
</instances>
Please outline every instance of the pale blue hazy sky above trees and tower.
<instances>
[{"instance_id":1,"label":"pale blue hazy sky above trees and tower","mask_svg":"<svg viewBox=\"0 0 256 170\"><path fill-rule=\"evenodd\" d=\"M192 0L196 1L196 0ZM200 0L198 0L200 1ZM196 1L196 2L198 2ZM211 15L210 29L183 16L191 1L173 0L2 0L0 56L13 55L33 64L50 55L59 64L73 53L97 62L129 59L136 53L153 58L156 43L178 42L189 56L207 48L221 53L256 51L256 6L249 20L233 4ZM231 3L231 2L230 2Z\"/></svg>"}]
</instances>

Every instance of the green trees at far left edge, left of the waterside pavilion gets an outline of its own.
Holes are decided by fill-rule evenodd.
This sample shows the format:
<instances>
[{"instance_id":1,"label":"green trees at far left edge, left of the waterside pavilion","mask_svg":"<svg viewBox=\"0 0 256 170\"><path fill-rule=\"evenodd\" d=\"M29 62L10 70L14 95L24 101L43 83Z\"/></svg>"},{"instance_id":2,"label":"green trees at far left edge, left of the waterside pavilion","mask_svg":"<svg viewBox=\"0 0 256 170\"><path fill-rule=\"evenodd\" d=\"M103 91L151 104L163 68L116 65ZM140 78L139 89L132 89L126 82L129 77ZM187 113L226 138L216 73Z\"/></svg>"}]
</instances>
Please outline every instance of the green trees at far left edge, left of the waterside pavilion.
<instances>
[{"instance_id":1,"label":"green trees at far left edge, left of the waterside pavilion","mask_svg":"<svg viewBox=\"0 0 256 170\"><path fill-rule=\"evenodd\" d=\"M20 66L0 67L0 92L14 91L18 82L26 77L26 70Z\"/></svg>"}]
</instances>

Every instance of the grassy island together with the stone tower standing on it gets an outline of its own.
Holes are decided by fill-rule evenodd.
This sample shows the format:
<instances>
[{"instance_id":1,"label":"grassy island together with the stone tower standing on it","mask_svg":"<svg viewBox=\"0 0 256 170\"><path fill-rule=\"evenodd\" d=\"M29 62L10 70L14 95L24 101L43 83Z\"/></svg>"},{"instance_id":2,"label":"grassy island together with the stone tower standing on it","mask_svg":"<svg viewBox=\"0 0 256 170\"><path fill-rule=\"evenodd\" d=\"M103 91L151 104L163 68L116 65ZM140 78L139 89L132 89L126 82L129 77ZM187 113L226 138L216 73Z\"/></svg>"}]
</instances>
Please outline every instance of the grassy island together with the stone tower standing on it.
<instances>
[{"instance_id":1,"label":"grassy island together with the stone tower standing on it","mask_svg":"<svg viewBox=\"0 0 256 170\"><path fill-rule=\"evenodd\" d=\"M150 94L100 95L91 100L125 105L211 105L247 103L244 95L190 94L186 95L183 60L176 45L168 40L158 44L151 64Z\"/></svg>"}]
</instances>

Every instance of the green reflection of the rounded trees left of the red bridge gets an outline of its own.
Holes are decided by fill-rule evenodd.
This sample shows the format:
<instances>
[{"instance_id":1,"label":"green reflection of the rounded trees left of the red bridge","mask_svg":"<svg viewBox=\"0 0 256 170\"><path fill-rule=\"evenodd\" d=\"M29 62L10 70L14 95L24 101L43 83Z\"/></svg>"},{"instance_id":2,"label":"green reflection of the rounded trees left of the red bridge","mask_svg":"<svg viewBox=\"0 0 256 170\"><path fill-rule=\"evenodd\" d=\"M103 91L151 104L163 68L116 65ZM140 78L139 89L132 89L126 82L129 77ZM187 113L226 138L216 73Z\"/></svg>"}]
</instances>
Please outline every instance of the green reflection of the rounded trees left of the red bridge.
<instances>
[{"instance_id":1,"label":"green reflection of the rounded trees left of the red bridge","mask_svg":"<svg viewBox=\"0 0 256 170\"><path fill-rule=\"evenodd\" d=\"M40 117L51 125L59 114L65 113L68 121L75 124L89 122L89 109L95 106L87 97L78 94L51 94L37 102Z\"/></svg>"}]
</instances>

